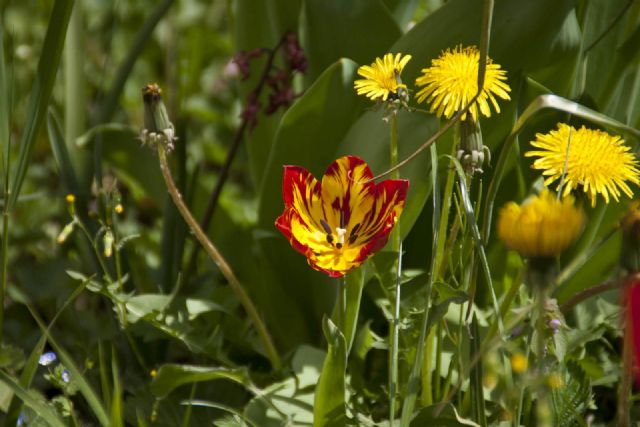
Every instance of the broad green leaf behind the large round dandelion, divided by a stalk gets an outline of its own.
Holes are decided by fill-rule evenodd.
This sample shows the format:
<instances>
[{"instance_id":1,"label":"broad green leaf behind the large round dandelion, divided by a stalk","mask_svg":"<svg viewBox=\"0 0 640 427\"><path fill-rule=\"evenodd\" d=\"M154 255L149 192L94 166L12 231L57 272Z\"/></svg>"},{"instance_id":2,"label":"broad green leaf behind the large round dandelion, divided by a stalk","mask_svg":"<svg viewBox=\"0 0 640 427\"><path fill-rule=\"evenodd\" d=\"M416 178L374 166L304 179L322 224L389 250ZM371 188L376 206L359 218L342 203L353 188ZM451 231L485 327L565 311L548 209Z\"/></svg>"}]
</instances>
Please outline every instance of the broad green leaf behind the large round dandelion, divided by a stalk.
<instances>
[{"instance_id":1,"label":"broad green leaf behind the large round dandelion, divided by a stalk","mask_svg":"<svg viewBox=\"0 0 640 427\"><path fill-rule=\"evenodd\" d=\"M497 0L489 56L508 72L515 72L542 69L575 53L580 33L572 10L577 3ZM482 8L482 1L447 2L401 37L391 50L413 55L403 80L413 81L421 68L447 48L478 45Z\"/></svg>"}]
</instances>

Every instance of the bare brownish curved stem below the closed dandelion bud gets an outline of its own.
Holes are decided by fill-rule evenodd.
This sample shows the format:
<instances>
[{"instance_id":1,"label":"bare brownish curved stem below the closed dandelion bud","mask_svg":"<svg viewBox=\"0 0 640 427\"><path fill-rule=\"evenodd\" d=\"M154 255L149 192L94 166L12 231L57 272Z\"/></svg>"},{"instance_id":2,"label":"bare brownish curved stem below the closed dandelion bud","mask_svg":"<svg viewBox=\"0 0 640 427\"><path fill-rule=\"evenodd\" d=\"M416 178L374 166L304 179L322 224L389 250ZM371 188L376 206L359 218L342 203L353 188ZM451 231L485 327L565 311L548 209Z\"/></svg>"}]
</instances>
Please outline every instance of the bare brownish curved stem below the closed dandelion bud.
<instances>
[{"instance_id":1,"label":"bare brownish curved stem below the closed dandelion bud","mask_svg":"<svg viewBox=\"0 0 640 427\"><path fill-rule=\"evenodd\" d=\"M258 314L258 310L256 309L255 305L253 305L251 298L242 287L242 284L240 284L240 281L231 269L231 266L227 263L227 261L224 259L215 245L209 240L209 238L207 238L206 234L202 231L202 228L200 228L200 226L198 225L198 222L195 220L193 215L191 215L189 208L187 208L187 206L184 204L182 195L180 194L180 191L176 187L176 184L173 181L173 177L171 176L171 169L169 168L169 164L167 162L166 148L161 143L158 144L158 158L160 160L160 170L162 171L162 176L164 177L164 181L167 185L167 189L169 191L169 194L171 195L171 198L173 199L173 202L176 204L176 207L180 211L180 214L182 214L182 217L184 218L191 231L193 231L193 234L196 236L200 244L204 247L207 254L216 263L222 275L229 282L229 286L240 300L240 303L249 315L249 318L253 322L253 325L258 332L258 336L260 337L262 345L267 352L267 356L269 358L269 361L271 362L271 365L275 369L279 369L282 366L280 356L276 351L276 348L273 344L273 341L271 340L271 336L269 335L264 322Z\"/></svg>"}]
</instances>

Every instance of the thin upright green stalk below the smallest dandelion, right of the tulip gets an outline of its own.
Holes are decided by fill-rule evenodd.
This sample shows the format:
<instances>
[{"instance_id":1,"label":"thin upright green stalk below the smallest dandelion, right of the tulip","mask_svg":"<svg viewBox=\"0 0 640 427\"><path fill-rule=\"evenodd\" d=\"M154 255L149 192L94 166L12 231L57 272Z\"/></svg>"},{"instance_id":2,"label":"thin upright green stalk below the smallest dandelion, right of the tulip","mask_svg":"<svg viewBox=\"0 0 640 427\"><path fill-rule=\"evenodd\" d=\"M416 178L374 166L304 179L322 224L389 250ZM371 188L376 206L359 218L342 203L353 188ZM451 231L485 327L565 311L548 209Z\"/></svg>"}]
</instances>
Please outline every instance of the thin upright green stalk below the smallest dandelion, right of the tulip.
<instances>
[{"instance_id":1,"label":"thin upright green stalk below the smallest dandelion, right of the tulip","mask_svg":"<svg viewBox=\"0 0 640 427\"><path fill-rule=\"evenodd\" d=\"M398 114L393 112L389 119L391 134L389 138L389 159L390 167L393 168L398 163ZM391 175L393 179L400 177L400 171L396 170ZM398 252L396 262L395 292L393 303L393 327L389 336L391 339L391 363L389 364L389 422L394 425L396 414L396 397L398 393L398 346L400 334L400 278L402 275L402 242L400 239L400 226L391 234L391 250Z\"/></svg>"}]
</instances>

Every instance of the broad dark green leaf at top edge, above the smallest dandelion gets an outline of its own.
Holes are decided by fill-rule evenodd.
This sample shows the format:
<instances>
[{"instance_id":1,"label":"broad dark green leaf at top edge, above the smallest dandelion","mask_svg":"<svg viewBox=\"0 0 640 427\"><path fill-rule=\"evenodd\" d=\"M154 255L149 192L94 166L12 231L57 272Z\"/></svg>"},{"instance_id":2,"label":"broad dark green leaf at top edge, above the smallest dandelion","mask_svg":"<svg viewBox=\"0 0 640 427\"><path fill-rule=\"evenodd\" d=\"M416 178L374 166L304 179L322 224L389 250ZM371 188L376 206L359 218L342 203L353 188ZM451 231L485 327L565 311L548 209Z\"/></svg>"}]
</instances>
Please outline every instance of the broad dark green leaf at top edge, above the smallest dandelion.
<instances>
[{"instance_id":1,"label":"broad dark green leaf at top edge, above the smallest dandelion","mask_svg":"<svg viewBox=\"0 0 640 427\"><path fill-rule=\"evenodd\" d=\"M401 35L380 0L305 0L304 6L309 81L339 58L370 64Z\"/></svg>"}]
</instances>

